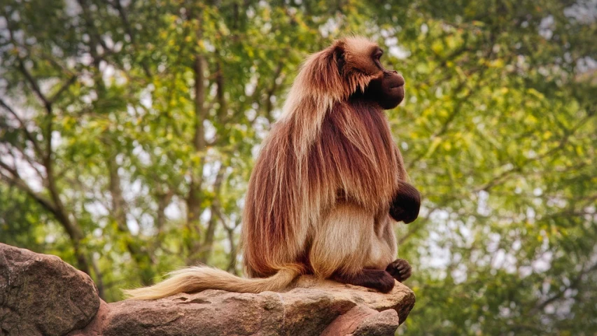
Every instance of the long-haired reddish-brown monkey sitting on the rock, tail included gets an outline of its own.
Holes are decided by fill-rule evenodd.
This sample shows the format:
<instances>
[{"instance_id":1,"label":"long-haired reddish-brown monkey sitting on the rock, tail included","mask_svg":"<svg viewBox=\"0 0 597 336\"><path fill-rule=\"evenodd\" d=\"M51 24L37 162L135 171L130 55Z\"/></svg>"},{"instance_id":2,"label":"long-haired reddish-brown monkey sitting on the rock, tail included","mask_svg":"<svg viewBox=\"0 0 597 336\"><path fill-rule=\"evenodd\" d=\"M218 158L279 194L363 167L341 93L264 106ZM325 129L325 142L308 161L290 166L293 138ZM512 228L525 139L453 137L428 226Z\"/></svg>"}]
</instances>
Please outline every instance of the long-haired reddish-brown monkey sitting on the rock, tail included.
<instances>
[{"instance_id":1,"label":"long-haired reddish-brown monkey sitting on the rock, tail included","mask_svg":"<svg viewBox=\"0 0 597 336\"><path fill-rule=\"evenodd\" d=\"M220 289L280 291L297 276L388 293L411 275L393 260L393 221L419 216L384 110L405 97L405 79L385 69L366 38L340 38L307 58L290 87L248 182L241 248L248 279L196 266L170 273L134 299Z\"/></svg>"}]
</instances>

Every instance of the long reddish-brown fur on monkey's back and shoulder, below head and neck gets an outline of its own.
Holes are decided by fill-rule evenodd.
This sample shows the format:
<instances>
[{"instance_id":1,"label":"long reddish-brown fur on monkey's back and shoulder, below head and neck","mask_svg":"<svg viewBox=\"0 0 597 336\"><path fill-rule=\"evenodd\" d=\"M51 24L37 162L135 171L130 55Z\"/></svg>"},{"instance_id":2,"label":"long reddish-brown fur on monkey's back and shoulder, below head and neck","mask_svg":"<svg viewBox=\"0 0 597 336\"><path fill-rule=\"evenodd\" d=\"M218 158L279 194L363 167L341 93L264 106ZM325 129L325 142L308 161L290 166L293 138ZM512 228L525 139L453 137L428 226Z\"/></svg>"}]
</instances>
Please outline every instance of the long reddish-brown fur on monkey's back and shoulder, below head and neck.
<instances>
[{"instance_id":1,"label":"long reddish-brown fur on monkey's back and shoulder, below head and neck","mask_svg":"<svg viewBox=\"0 0 597 336\"><path fill-rule=\"evenodd\" d=\"M339 199L372 212L388 207L398 184L396 148L381 109L335 104L307 148L300 147L301 125L295 118L276 123L255 162L242 227L249 276L285 267L308 272L310 225Z\"/></svg>"}]
</instances>

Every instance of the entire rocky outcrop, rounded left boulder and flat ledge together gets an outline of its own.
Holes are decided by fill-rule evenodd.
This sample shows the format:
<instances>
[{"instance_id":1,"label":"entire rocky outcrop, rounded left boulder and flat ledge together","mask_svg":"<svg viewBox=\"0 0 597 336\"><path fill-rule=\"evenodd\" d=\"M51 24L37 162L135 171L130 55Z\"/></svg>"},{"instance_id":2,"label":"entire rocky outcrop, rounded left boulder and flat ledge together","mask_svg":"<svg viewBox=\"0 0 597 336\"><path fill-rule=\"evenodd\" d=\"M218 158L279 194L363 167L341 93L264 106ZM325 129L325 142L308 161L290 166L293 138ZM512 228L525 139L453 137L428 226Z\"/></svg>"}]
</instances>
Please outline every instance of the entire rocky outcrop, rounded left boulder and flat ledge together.
<instances>
[{"instance_id":1,"label":"entire rocky outcrop, rounded left boulder and flat ledge together","mask_svg":"<svg viewBox=\"0 0 597 336\"><path fill-rule=\"evenodd\" d=\"M204 290L106 304L86 274L0 244L0 335L393 335L414 306L391 293L297 279L284 293Z\"/></svg>"}]
</instances>

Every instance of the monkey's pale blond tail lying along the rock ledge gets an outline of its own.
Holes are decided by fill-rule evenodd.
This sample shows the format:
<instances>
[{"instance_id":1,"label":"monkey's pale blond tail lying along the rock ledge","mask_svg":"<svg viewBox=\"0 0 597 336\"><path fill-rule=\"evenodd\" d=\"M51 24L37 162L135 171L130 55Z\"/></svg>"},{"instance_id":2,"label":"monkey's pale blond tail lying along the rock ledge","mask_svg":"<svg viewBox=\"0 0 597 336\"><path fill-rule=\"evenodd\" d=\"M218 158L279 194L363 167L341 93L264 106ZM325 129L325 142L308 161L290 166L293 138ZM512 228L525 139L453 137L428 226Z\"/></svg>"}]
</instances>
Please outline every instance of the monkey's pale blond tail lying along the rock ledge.
<instances>
[{"instance_id":1,"label":"monkey's pale blond tail lying along the rock ledge","mask_svg":"<svg viewBox=\"0 0 597 336\"><path fill-rule=\"evenodd\" d=\"M300 274L292 268L280 269L268 278L244 279L222 269L206 266L188 267L170 272L169 278L153 286L124 290L136 300L154 300L177 293L192 293L204 289L221 289L237 293L261 293L282 290Z\"/></svg>"}]
</instances>

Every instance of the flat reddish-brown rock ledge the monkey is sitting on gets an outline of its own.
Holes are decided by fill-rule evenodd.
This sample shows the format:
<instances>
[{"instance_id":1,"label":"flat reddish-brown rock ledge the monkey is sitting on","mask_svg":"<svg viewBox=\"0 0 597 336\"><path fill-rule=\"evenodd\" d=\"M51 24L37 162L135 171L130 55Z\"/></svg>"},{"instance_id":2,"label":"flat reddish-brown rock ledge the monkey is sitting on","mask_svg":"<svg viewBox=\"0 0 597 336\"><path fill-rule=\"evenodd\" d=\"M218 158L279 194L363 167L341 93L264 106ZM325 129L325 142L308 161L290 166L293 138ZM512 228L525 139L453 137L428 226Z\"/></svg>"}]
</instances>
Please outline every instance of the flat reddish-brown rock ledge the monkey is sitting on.
<instances>
[{"instance_id":1,"label":"flat reddish-brown rock ledge the monkey is sitting on","mask_svg":"<svg viewBox=\"0 0 597 336\"><path fill-rule=\"evenodd\" d=\"M382 294L302 276L284 293L204 290L110 304L104 335L393 335L404 321L396 309L406 318L413 305L398 282Z\"/></svg>"}]
</instances>

